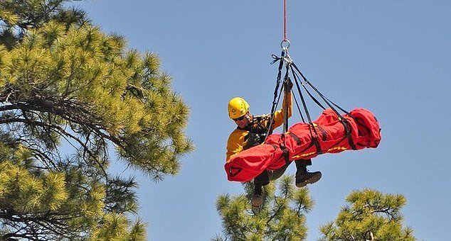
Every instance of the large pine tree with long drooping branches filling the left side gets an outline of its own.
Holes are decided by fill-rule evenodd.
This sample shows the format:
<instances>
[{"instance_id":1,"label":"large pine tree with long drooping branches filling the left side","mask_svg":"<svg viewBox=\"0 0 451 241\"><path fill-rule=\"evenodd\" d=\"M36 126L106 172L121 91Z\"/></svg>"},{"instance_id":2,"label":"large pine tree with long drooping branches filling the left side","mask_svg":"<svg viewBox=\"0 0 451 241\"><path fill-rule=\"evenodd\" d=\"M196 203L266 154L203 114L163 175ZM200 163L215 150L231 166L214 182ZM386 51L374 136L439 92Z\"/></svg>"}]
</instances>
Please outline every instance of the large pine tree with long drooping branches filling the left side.
<instances>
[{"instance_id":1,"label":"large pine tree with long drooping branches filling the left side","mask_svg":"<svg viewBox=\"0 0 451 241\"><path fill-rule=\"evenodd\" d=\"M189 108L156 54L65 2L0 1L0 240L145 240L127 218L137 183L110 155L176 174Z\"/></svg>"}]
</instances>

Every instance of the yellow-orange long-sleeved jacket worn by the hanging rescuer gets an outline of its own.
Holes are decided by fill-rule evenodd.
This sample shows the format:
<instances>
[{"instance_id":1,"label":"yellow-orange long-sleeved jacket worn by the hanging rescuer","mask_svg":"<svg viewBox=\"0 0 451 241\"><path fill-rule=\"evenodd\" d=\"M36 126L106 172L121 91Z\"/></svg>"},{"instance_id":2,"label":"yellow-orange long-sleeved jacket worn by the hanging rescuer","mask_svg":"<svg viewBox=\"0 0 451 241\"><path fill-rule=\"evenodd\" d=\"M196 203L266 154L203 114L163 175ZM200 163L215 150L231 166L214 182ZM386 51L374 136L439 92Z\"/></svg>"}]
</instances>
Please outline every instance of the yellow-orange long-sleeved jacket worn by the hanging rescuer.
<instances>
[{"instance_id":1,"label":"yellow-orange long-sleeved jacket worn by the hanging rescuer","mask_svg":"<svg viewBox=\"0 0 451 241\"><path fill-rule=\"evenodd\" d=\"M282 108L279 111L275 111L275 113L274 113L274 119L272 120L273 121L272 130L274 130L275 128L282 125L283 120L284 120L283 108L285 108L286 102L288 102L288 106L287 106L288 118L291 117L291 115L292 115L292 99L291 99L291 94L287 94L287 98L284 97ZM262 117L263 123L261 123L261 124L266 127L267 122L270 120L270 115L268 114L268 115L258 116L258 117ZM252 118L254 119L254 116ZM254 121L251 121L251 123L254 123ZM254 125L256 125L256 124L254 123ZM230 159L230 157L233 157L234 155L237 155L238 153L243 151L243 147L245 147L245 145L248 142L248 135L249 135L248 130L243 130L240 128L236 128L235 130L233 130L232 133L230 133L228 140L227 140L227 153L226 153L227 162Z\"/></svg>"}]
</instances>

